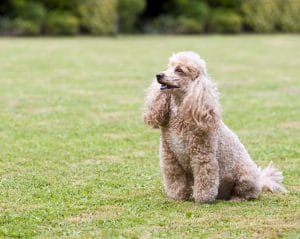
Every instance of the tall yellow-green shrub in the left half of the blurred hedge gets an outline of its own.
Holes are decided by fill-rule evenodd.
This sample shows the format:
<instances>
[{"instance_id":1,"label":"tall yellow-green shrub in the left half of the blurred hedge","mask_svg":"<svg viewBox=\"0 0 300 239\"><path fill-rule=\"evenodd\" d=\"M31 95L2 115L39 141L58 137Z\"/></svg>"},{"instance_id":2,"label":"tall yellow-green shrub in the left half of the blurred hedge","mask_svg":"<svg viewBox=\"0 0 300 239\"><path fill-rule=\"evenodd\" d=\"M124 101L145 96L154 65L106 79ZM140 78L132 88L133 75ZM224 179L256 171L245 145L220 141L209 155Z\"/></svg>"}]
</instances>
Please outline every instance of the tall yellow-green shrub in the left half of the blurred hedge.
<instances>
[{"instance_id":1,"label":"tall yellow-green shrub in the left half of the blurred hedge","mask_svg":"<svg viewBox=\"0 0 300 239\"><path fill-rule=\"evenodd\" d=\"M83 29L96 35L115 34L117 28L116 0L86 0L78 8Z\"/></svg>"}]
</instances>

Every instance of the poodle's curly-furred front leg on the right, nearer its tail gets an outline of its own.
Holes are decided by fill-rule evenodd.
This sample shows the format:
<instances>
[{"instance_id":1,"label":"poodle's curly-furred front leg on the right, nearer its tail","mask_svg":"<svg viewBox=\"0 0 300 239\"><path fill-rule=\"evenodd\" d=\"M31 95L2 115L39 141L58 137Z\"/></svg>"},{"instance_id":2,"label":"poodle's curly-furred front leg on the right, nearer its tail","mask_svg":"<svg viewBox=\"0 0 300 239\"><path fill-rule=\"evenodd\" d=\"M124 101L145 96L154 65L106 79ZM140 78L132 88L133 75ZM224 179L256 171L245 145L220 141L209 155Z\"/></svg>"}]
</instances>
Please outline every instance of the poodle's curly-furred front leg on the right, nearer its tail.
<instances>
[{"instance_id":1,"label":"poodle's curly-furred front leg on the right, nearer its tail","mask_svg":"<svg viewBox=\"0 0 300 239\"><path fill-rule=\"evenodd\" d=\"M194 156L192 158L192 170L195 202L213 202L218 195L219 188L219 165L215 155L210 153Z\"/></svg>"}]
</instances>

